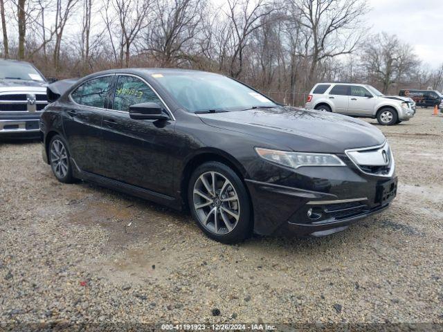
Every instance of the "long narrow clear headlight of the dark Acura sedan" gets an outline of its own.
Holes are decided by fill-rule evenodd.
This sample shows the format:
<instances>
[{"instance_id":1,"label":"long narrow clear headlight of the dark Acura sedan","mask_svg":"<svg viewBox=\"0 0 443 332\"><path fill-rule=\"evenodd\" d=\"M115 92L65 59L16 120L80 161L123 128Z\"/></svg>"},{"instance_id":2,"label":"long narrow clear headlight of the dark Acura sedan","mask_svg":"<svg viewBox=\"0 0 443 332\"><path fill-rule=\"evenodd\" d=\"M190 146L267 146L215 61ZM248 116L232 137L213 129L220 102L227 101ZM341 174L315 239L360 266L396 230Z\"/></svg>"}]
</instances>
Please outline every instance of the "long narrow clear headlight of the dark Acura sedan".
<instances>
[{"instance_id":1,"label":"long narrow clear headlight of the dark Acura sedan","mask_svg":"<svg viewBox=\"0 0 443 332\"><path fill-rule=\"evenodd\" d=\"M346 166L346 164L334 154L278 151L262 149L261 147L256 147L255 151L257 151L257 154L263 159L291 168L302 166Z\"/></svg>"}]
</instances>

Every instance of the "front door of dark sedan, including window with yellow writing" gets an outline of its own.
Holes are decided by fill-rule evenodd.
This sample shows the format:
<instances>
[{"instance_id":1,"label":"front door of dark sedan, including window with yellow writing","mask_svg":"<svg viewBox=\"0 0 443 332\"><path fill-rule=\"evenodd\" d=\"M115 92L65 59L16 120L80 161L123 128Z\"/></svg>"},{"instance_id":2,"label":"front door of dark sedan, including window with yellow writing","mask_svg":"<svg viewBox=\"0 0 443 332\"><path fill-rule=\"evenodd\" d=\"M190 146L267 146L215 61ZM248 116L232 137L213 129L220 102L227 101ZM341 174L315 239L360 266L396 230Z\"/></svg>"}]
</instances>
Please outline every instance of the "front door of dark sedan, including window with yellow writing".
<instances>
[{"instance_id":1,"label":"front door of dark sedan, including window with yellow writing","mask_svg":"<svg viewBox=\"0 0 443 332\"><path fill-rule=\"evenodd\" d=\"M118 75L111 98L113 110L103 114L102 175L172 196L170 141L174 137L174 121L130 118L129 106L142 102L156 102L164 108L146 82L132 75Z\"/></svg>"}]
</instances>

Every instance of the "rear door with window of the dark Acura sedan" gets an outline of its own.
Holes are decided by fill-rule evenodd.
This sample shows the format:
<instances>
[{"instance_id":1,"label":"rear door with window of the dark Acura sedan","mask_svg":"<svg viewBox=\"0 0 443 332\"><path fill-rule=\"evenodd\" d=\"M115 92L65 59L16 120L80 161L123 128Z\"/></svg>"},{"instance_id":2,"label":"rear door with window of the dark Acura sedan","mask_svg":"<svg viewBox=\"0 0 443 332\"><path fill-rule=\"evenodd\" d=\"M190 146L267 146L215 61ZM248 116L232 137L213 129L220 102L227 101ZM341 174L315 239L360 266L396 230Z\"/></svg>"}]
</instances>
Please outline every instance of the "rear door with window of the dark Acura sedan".
<instances>
[{"instance_id":1,"label":"rear door with window of the dark Acura sedan","mask_svg":"<svg viewBox=\"0 0 443 332\"><path fill-rule=\"evenodd\" d=\"M114 75L93 78L78 86L66 103L63 127L71 157L82 170L100 174L102 110Z\"/></svg>"}]
</instances>

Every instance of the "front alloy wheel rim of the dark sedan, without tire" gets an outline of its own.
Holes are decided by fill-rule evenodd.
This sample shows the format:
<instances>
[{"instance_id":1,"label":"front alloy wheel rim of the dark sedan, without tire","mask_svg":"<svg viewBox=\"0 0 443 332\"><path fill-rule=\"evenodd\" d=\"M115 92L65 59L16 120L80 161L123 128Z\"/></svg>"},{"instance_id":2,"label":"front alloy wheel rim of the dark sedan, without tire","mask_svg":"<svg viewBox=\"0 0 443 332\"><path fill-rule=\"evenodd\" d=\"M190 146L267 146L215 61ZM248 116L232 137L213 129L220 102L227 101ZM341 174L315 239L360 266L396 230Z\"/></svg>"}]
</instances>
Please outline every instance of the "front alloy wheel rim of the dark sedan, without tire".
<instances>
[{"instance_id":1,"label":"front alloy wheel rim of the dark sedan, without tire","mask_svg":"<svg viewBox=\"0 0 443 332\"><path fill-rule=\"evenodd\" d=\"M194 184L195 212L201 225L215 234L228 234L240 218L240 203L233 184L218 172L201 174Z\"/></svg>"}]
</instances>

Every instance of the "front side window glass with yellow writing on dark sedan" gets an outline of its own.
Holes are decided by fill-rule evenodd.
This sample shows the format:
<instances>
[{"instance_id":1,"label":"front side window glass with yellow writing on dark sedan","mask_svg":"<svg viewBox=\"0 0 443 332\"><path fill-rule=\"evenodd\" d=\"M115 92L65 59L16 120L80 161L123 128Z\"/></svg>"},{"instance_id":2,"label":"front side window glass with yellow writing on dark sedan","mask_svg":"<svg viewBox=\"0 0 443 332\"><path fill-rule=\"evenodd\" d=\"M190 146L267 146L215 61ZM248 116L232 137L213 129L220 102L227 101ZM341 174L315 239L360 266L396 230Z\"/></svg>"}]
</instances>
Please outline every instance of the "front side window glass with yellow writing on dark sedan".
<instances>
[{"instance_id":1,"label":"front side window glass with yellow writing on dark sedan","mask_svg":"<svg viewBox=\"0 0 443 332\"><path fill-rule=\"evenodd\" d=\"M143 102L156 102L163 105L160 98L142 80L133 76L119 76L113 109L129 112L129 106Z\"/></svg>"}]
</instances>

